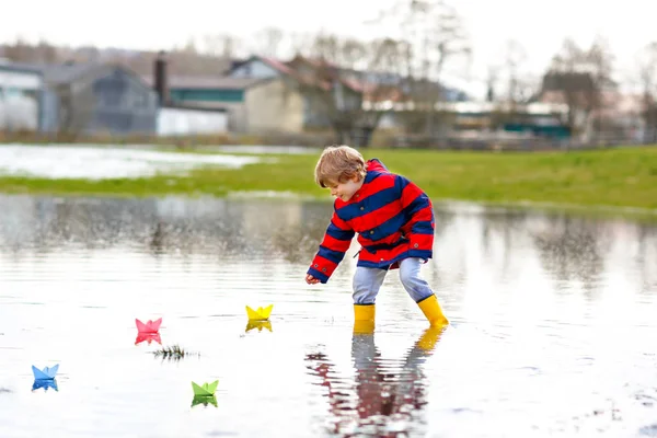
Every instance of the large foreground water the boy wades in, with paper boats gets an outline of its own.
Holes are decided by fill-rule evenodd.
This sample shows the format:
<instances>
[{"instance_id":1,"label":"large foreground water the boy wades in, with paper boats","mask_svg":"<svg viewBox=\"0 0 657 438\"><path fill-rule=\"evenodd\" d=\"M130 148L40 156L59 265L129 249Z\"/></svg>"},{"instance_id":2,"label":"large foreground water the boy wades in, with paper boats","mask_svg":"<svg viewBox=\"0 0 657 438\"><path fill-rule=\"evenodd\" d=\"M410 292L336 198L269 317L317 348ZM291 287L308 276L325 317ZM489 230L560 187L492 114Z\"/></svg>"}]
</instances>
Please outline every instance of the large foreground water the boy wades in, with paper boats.
<instances>
[{"instance_id":1,"label":"large foreground water the boy wades in, with paper boats","mask_svg":"<svg viewBox=\"0 0 657 438\"><path fill-rule=\"evenodd\" d=\"M0 196L0 436L654 436L656 226L440 207L424 275L452 325L391 273L354 335L358 249L303 281L331 209ZM189 356L137 338L159 318Z\"/></svg>"}]
</instances>

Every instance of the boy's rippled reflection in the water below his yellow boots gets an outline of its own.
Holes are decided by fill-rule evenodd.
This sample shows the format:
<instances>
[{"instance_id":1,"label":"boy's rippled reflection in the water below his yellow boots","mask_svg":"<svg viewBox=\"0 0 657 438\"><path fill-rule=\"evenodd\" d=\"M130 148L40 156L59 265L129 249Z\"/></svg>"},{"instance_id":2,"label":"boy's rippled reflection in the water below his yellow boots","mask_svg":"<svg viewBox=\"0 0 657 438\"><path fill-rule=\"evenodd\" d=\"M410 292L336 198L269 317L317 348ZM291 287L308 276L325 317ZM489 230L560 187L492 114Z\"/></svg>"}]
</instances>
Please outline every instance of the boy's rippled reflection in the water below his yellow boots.
<instances>
[{"instance_id":1,"label":"boy's rippled reflection in the water below his yellow boots","mask_svg":"<svg viewBox=\"0 0 657 438\"><path fill-rule=\"evenodd\" d=\"M429 327L402 360L382 360L374 344L373 326L354 326L351 358L355 382L342 379L322 353L307 355L308 368L328 391L334 434L396 437L417 426L417 413L427 403L422 365L431 355L443 327ZM356 399L356 400L354 400ZM394 422L395 427L389 428ZM417 419L415 420L417 423ZM400 425L404 424L404 430Z\"/></svg>"}]
</instances>

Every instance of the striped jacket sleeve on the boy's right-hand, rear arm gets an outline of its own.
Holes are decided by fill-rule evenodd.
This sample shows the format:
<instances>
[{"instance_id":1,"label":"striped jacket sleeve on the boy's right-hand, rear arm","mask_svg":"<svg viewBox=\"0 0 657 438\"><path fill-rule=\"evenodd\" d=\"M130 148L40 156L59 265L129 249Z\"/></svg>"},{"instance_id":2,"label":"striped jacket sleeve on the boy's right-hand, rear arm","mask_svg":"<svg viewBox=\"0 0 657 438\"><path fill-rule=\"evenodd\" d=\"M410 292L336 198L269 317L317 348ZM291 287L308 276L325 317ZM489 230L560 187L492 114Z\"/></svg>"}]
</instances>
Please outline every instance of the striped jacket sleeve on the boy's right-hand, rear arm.
<instances>
[{"instance_id":1,"label":"striped jacket sleeve on the boy's right-hand, rear arm","mask_svg":"<svg viewBox=\"0 0 657 438\"><path fill-rule=\"evenodd\" d=\"M400 199L406 217L403 227L404 234L411 241L408 255L412 257L430 258L434 250L434 208L431 200L418 186L397 175Z\"/></svg>"}]
</instances>

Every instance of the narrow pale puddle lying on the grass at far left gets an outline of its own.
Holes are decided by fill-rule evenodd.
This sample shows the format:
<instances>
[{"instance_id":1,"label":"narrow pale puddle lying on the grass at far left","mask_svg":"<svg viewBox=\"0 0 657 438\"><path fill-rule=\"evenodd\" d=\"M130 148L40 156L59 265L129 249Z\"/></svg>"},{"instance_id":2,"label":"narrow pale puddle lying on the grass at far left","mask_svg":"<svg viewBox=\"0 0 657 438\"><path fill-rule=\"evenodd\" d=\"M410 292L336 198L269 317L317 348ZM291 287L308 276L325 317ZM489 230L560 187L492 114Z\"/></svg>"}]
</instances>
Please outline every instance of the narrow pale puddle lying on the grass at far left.
<instances>
[{"instance_id":1,"label":"narrow pale puddle lying on the grass at far left","mask_svg":"<svg viewBox=\"0 0 657 438\"><path fill-rule=\"evenodd\" d=\"M0 175L46 178L130 178L201 165L240 168L255 157L162 152L84 146L0 146Z\"/></svg>"}]
</instances>

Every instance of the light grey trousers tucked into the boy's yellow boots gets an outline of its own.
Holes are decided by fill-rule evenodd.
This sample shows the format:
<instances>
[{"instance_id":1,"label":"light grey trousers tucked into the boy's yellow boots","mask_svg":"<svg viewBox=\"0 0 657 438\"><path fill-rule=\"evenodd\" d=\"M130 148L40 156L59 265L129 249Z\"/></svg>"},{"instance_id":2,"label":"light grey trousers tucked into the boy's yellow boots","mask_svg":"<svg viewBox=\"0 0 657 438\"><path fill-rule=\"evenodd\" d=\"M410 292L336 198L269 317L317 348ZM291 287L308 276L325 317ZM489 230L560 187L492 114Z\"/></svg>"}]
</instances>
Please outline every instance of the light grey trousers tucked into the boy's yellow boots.
<instances>
[{"instance_id":1,"label":"light grey trousers tucked into the boy's yellow boots","mask_svg":"<svg viewBox=\"0 0 657 438\"><path fill-rule=\"evenodd\" d=\"M422 258L416 257L400 262L400 280L415 302L434 295L429 284L419 274L422 264ZM387 269L358 266L354 275L354 303L373 304Z\"/></svg>"}]
</instances>

